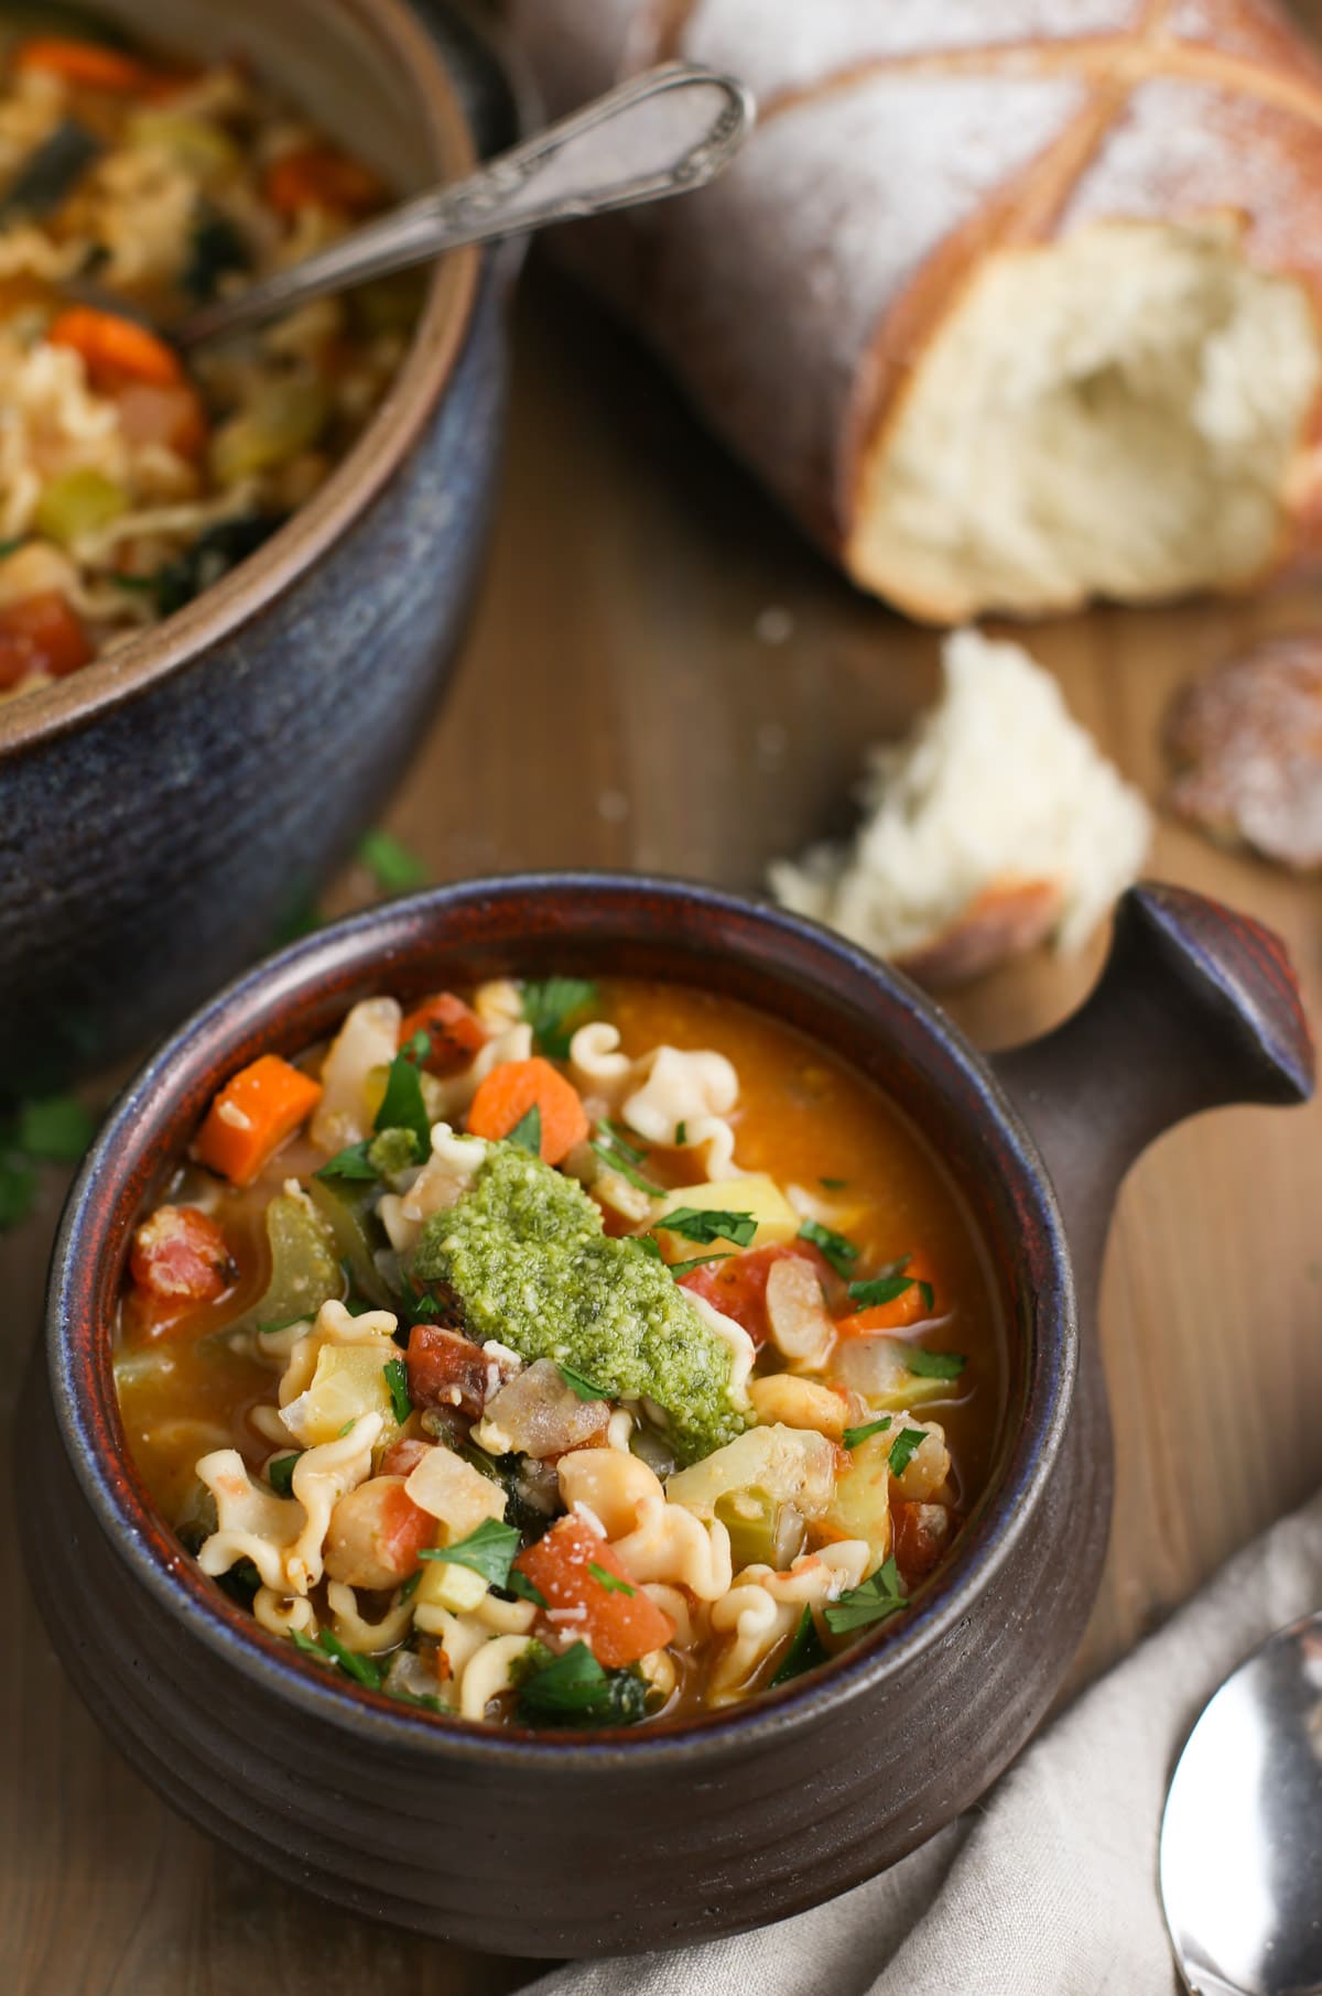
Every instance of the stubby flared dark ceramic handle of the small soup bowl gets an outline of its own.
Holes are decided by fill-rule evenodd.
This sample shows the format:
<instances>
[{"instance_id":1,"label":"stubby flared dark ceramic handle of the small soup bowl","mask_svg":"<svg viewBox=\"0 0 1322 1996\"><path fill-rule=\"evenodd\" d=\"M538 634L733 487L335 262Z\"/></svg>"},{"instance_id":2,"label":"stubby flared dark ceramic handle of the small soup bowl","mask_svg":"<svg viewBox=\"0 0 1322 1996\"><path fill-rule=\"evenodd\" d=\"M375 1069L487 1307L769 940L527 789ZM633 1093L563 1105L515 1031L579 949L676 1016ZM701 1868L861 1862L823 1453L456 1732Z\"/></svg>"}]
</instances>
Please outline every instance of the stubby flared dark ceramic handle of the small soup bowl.
<instances>
[{"instance_id":1,"label":"stubby flared dark ceramic handle of the small soup bowl","mask_svg":"<svg viewBox=\"0 0 1322 1996\"><path fill-rule=\"evenodd\" d=\"M1226 1102L1306 1102L1314 1050L1270 928L1144 882L1120 900L1078 1012L992 1068L1046 1160L1086 1295L1120 1180L1152 1138Z\"/></svg>"}]
</instances>

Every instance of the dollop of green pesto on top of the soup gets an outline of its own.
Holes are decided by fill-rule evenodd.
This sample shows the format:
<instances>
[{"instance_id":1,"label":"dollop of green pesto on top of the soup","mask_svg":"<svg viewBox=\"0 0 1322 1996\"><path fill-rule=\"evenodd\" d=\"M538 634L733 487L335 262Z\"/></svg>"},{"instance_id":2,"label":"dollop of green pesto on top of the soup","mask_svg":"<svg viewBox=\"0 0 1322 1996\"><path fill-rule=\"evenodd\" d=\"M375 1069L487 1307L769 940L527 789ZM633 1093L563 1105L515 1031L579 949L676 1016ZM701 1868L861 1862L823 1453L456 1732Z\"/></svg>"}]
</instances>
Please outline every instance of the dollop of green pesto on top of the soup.
<instances>
[{"instance_id":1,"label":"dollop of green pesto on top of the soup","mask_svg":"<svg viewBox=\"0 0 1322 1996\"><path fill-rule=\"evenodd\" d=\"M611 1399L655 1399L685 1463L745 1425L725 1339L661 1261L603 1232L581 1186L517 1144L495 1144L463 1198L431 1214L411 1273L455 1291L473 1337L571 1365Z\"/></svg>"}]
</instances>

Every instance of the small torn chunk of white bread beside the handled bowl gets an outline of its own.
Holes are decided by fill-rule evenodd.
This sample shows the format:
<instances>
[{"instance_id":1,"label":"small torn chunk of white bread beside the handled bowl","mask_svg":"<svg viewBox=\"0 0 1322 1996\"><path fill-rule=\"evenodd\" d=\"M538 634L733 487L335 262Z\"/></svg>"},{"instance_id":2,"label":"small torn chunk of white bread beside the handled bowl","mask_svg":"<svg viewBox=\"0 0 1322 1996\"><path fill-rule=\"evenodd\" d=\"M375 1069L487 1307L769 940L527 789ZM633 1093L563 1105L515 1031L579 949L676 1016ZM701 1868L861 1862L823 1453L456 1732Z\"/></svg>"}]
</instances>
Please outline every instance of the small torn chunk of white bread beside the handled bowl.
<instances>
[{"instance_id":1,"label":"small torn chunk of white bread beside the handled bowl","mask_svg":"<svg viewBox=\"0 0 1322 1996\"><path fill-rule=\"evenodd\" d=\"M957 631L943 669L939 705L873 750L853 840L771 868L783 906L935 988L1046 936L1076 950L1150 838L1146 804L1026 651Z\"/></svg>"}]
</instances>

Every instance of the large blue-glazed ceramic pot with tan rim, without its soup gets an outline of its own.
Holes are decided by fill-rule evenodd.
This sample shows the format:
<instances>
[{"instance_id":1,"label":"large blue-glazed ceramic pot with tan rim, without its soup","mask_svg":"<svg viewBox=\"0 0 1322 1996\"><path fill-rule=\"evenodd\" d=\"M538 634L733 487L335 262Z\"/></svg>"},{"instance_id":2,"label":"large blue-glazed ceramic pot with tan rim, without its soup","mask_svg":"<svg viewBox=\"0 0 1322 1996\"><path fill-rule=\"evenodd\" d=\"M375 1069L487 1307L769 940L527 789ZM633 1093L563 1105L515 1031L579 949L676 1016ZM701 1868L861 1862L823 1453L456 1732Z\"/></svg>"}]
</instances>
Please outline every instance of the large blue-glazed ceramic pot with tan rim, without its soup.
<instances>
[{"instance_id":1,"label":"large blue-glazed ceramic pot with tan rim, without its soup","mask_svg":"<svg viewBox=\"0 0 1322 1996\"><path fill-rule=\"evenodd\" d=\"M246 52L401 190L467 172L475 136L515 136L489 58L435 0L433 32L403 0L104 12ZM499 257L439 263L381 409L274 539L112 661L0 703L0 1094L180 1018L272 946L389 794L485 543L505 289Z\"/></svg>"}]
</instances>

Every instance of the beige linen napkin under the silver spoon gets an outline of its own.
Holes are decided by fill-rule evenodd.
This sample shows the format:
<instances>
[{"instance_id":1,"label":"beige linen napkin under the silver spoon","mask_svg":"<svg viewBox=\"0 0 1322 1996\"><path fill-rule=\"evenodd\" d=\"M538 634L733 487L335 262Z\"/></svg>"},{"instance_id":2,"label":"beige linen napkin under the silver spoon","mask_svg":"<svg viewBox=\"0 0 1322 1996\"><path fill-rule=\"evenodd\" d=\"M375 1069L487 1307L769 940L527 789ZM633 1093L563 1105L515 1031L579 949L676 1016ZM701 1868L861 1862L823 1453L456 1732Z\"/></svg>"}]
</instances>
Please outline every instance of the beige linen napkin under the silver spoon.
<instances>
[{"instance_id":1,"label":"beige linen napkin under the silver spoon","mask_svg":"<svg viewBox=\"0 0 1322 1996\"><path fill-rule=\"evenodd\" d=\"M1170 1996L1156 1834L1174 1758L1222 1677L1320 1607L1322 1497L895 1870L735 1940L569 1964L525 1996Z\"/></svg>"}]
</instances>

